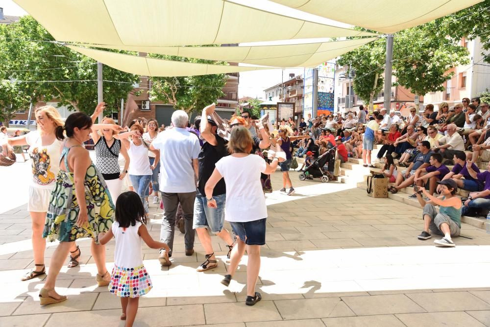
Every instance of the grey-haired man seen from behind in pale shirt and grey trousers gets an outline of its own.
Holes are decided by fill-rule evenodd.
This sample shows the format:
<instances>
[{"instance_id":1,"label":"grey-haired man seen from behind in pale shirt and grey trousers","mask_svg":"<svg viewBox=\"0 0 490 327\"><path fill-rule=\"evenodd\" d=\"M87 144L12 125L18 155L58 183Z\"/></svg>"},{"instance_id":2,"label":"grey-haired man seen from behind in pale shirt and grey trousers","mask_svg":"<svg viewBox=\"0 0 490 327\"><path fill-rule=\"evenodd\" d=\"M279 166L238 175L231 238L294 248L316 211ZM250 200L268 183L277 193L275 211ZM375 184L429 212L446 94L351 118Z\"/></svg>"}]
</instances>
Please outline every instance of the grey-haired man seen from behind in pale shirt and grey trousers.
<instances>
[{"instance_id":1,"label":"grey-haired man seen from behind in pale shirt and grey trousers","mask_svg":"<svg viewBox=\"0 0 490 327\"><path fill-rule=\"evenodd\" d=\"M201 151L197 136L186 127L189 117L183 110L175 110L172 114L171 129L158 134L151 143L151 150L160 150L160 192L164 214L160 230L160 241L170 247L172 256L173 235L175 231L175 214L180 202L185 219L185 254L194 253L194 201L196 200L196 182L198 176L197 157ZM166 258L165 250L160 250L158 259L163 266L172 263Z\"/></svg>"}]
</instances>

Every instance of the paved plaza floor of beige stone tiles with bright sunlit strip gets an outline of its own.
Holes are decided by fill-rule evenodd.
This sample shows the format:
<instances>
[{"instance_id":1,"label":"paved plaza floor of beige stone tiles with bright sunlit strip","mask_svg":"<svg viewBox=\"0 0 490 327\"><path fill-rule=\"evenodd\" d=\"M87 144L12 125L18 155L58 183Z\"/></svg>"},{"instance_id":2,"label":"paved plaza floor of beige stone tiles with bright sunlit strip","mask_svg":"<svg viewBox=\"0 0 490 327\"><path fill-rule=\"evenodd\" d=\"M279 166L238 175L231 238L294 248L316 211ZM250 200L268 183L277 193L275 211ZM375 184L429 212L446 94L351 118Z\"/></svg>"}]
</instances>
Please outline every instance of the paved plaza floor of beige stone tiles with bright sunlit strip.
<instances>
[{"instance_id":1,"label":"paved plaza floor of beige stone tiles with bright sunlit strip","mask_svg":"<svg viewBox=\"0 0 490 327\"><path fill-rule=\"evenodd\" d=\"M170 268L144 247L154 288L140 301L135 326L490 326L489 234L464 224L469 238L455 238L456 248L437 248L434 237L417 239L421 209L369 198L353 184L300 182L291 175L294 196L267 195L261 302L244 303L246 256L225 288L224 243L212 237L219 266L197 273L205 253L196 237L196 253L185 256L177 231ZM280 174L272 179L278 190ZM151 205L151 213L148 226L158 238L162 212ZM123 326L119 299L97 286L90 240L77 242L80 266L59 275L56 289L68 300L41 307L44 277L20 281L33 264L30 233L25 205L0 214L0 326ZM48 244L48 269L55 247ZM110 271L114 240L106 249Z\"/></svg>"}]
</instances>

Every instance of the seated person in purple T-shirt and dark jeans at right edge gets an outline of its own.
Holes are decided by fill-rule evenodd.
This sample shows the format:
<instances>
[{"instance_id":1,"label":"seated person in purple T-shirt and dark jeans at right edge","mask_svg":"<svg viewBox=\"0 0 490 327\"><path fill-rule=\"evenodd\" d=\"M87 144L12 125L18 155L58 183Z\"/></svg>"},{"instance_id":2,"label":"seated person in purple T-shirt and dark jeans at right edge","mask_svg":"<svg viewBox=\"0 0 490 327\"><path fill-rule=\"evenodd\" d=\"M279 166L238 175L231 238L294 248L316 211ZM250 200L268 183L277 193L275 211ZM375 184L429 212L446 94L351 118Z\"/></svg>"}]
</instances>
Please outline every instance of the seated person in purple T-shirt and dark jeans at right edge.
<instances>
[{"instance_id":1,"label":"seated person in purple T-shirt and dark jeans at right edge","mask_svg":"<svg viewBox=\"0 0 490 327\"><path fill-rule=\"evenodd\" d=\"M471 177L485 182L485 186L482 191L469 194L462 214L463 216L485 215L490 210L490 163L487 165L487 170L481 173L473 170L470 162L466 162L466 169Z\"/></svg>"}]
</instances>

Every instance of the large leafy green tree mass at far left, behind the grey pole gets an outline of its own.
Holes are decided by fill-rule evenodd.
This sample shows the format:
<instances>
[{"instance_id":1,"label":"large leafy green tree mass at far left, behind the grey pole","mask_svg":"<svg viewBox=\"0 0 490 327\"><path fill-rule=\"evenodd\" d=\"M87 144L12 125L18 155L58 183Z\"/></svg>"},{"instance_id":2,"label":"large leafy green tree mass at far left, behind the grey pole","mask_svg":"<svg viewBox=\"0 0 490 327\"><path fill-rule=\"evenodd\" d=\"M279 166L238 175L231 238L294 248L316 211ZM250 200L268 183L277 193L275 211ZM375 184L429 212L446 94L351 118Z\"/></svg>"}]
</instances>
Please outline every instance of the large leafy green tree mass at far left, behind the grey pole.
<instances>
[{"instance_id":1,"label":"large leafy green tree mass at far left, behind the grey pole","mask_svg":"<svg viewBox=\"0 0 490 327\"><path fill-rule=\"evenodd\" d=\"M60 44L29 40L54 41L30 16L12 25L0 25L0 79L16 79L20 92L33 103L56 99L58 105L92 113L97 105L96 62ZM105 65L103 76L106 80L123 82L103 83L107 112L117 110L121 99L127 97L139 77Z\"/></svg>"}]
</instances>

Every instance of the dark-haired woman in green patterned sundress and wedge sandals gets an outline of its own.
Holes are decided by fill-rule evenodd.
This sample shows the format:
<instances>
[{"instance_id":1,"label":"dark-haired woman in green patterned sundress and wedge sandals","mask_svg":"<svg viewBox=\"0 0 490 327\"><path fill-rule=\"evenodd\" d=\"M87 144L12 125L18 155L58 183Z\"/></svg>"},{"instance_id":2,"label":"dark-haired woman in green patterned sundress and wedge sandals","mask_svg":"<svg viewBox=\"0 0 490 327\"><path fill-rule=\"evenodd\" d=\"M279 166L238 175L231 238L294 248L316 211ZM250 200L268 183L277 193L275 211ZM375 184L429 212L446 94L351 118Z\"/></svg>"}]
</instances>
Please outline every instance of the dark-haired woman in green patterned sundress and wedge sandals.
<instances>
[{"instance_id":1,"label":"dark-haired woman in green patterned sundress and wedge sandals","mask_svg":"<svg viewBox=\"0 0 490 327\"><path fill-rule=\"evenodd\" d=\"M83 147L92 132L92 124L89 116L76 112L67 118L65 128L56 127L57 139L64 139L64 131L67 139L61 151L60 171L51 193L43 237L59 240L60 244L51 257L48 278L39 293L41 305L67 299L57 294L54 286L68 251L78 238L92 238L98 285L108 285L111 278L105 267L105 247L98 244L98 235L111 228L114 204L104 179ZM107 124L102 128L120 127Z\"/></svg>"}]
</instances>

